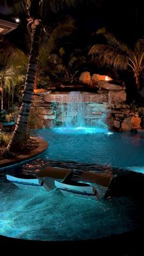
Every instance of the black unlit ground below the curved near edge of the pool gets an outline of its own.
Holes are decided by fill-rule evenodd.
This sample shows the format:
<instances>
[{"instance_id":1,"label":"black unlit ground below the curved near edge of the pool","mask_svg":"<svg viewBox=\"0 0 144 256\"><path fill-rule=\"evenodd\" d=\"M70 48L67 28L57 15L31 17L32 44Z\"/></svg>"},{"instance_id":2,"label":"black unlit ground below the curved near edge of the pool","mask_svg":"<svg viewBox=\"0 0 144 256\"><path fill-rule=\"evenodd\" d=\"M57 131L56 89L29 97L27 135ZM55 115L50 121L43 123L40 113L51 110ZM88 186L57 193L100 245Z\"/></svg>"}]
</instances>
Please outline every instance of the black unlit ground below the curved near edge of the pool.
<instances>
[{"instance_id":1,"label":"black unlit ground below the curved near edge of the pool","mask_svg":"<svg viewBox=\"0 0 144 256\"><path fill-rule=\"evenodd\" d=\"M107 238L86 241L45 242L18 240L0 236L1 250L15 252L16 248L27 252L46 252L46 255L110 255L110 256L143 256L143 228L134 232L112 235ZM19 254L20 255L20 254Z\"/></svg>"}]
</instances>

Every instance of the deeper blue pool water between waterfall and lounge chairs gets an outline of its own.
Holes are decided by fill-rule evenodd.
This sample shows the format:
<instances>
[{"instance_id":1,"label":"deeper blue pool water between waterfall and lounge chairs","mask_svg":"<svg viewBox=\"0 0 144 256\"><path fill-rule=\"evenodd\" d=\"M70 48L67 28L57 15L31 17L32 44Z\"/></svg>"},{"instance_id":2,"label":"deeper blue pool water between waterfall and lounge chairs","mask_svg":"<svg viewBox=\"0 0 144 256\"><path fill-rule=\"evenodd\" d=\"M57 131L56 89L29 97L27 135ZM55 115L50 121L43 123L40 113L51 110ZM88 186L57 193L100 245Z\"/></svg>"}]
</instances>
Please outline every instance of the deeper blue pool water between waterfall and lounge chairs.
<instances>
[{"instance_id":1,"label":"deeper blue pool water between waterfall and lounge chairs","mask_svg":"<svg viewBox=\"0 0 144 256\"><path fill-rule=\"evenodd\" d=\"M144 134L81 127L44 129L38 134L49 142L45 158L110 165L144 173Z\"/></svg>"}]
</instances>

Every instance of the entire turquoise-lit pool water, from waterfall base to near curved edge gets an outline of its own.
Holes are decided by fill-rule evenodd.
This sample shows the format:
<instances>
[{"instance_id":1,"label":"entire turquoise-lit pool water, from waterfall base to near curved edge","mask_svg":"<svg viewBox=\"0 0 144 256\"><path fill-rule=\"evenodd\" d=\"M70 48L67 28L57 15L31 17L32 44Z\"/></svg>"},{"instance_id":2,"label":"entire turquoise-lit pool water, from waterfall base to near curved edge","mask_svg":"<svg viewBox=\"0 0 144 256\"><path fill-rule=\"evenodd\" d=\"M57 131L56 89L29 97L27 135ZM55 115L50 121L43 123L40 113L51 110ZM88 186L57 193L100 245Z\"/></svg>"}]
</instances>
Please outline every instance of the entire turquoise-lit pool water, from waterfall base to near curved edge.
<instances>
[{"instance_id":1,"label":"entire turquoise-lit pool water, from waterfall base to near curved edge","mask_svg":"<svg viewBox=\"0 0 144 256\"><path fill-rule=\"evenodd\" d=\"M107 165L140 167L143 166L142 135L101 133L101 130L82 128L37 130L37 134L48 140L48 150L32 161L0 171L0 235L26 240L71 241L102 238L139 228L143 207L131 195L94 202L64 197L58 190L19 189L6 180L5 174L37 174L45 164L69 167L68 161L70 167L95 172L99 172L98 165L101 172L111 171ZM140 174L135 172L135 175ZM135 179L136 186L138 188L139 184Z\"/></svg>"}]
</instances>

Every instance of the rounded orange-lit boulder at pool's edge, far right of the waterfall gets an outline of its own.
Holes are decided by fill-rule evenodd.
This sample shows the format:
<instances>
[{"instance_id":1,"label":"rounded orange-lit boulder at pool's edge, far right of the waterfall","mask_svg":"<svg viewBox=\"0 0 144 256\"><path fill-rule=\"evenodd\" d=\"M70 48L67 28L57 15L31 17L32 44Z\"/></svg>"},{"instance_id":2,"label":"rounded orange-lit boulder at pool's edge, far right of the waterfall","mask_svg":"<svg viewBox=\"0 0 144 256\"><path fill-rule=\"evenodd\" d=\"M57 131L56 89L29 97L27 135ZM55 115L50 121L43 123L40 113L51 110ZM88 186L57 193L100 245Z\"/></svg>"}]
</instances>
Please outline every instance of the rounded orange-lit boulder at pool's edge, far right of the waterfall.
<instances>
[{"instance_id":1,"label":"rounded orange-lit boulder at pool's edge, far right of the waterfall","mask_svg":"<svg viewBox=\"0 0 144 256\"><path fill-rule=\"evenodd\" d=\"M125 117L123 122L121 123L121 131L132 131L135 129L140 128L140 122L141 119L140 117L137 116L130 116L130 117Z\"/></svg>"}]
</instances>

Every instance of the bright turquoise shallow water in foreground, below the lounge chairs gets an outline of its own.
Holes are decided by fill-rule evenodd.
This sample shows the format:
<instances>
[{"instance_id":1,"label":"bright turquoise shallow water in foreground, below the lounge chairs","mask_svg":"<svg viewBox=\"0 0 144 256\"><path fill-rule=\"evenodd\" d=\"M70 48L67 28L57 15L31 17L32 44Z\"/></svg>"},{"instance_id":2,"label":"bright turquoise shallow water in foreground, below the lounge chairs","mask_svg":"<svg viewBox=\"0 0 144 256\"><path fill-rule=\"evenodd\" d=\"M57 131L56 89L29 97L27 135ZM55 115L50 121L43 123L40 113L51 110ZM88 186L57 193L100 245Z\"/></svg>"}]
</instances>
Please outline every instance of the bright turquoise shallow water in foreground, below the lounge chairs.
<instances>
[{"instance_id":1,"label":"bright turquoise shallow water in foreground, below the lounge chairs","mask_svg":"<svg viewBox=\"0 0 144 256\"><path fill-rule=\"evenodd\" d=\"M99 202L62 196L59 190L37 192L3 180L0 234L43 241L87 240L137 228L136 207L120 197ZM131 214L132 213L132 214Z\"/></svg>"}]
</instances>

